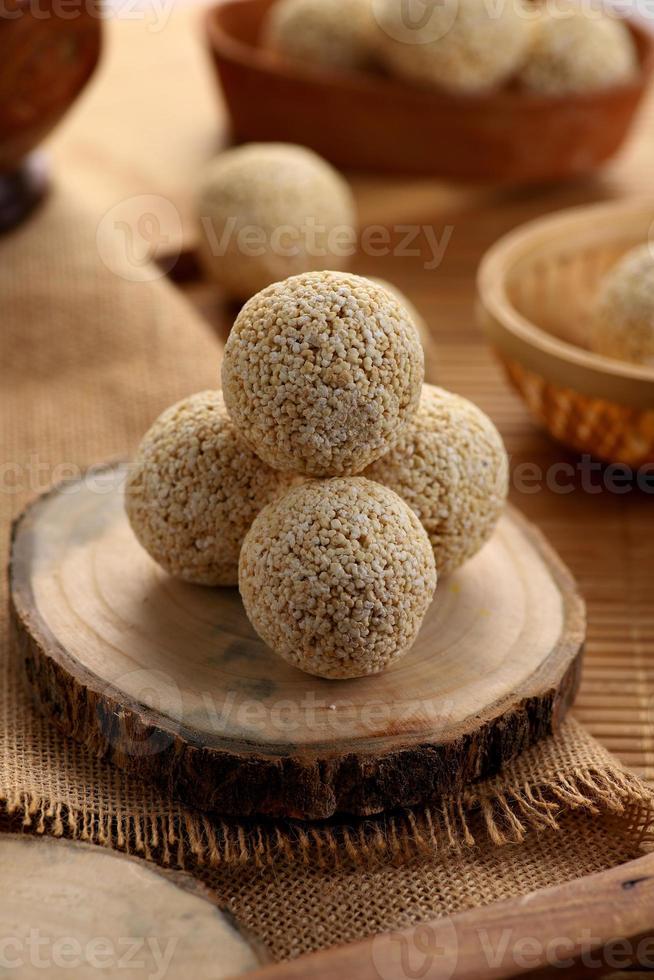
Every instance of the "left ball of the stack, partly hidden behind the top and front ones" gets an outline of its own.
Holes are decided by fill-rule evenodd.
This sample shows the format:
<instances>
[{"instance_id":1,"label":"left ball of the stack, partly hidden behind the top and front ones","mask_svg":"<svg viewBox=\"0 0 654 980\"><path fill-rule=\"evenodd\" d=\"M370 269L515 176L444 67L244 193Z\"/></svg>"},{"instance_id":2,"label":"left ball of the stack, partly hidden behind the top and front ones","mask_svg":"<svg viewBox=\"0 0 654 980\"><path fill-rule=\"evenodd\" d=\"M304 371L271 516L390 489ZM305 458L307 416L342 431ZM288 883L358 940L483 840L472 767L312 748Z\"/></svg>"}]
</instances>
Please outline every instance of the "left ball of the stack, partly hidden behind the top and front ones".
<instances>
[{"instance_id":1,"label":"left ball of the stack, partly hidden behind the top and front ones","mask_svg":"<svg viewBox=\"0 0 654 980\"><path fill-rule=\"evenodd\" d=\"M171 575L237 585L243 538L262 507L290 486L239 439L222 393L167 409L129 468L125 508L141 545Z\"/></svg>"}]
</instances>

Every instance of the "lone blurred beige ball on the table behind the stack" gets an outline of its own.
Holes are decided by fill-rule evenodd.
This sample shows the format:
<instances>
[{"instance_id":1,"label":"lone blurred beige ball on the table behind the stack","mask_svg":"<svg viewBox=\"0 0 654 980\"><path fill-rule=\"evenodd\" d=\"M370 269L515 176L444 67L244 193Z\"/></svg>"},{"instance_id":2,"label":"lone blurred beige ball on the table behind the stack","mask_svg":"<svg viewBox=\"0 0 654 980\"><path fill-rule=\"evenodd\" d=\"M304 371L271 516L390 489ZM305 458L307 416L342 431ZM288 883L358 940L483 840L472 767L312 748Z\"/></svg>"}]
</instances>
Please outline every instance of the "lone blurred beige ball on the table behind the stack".
<instances>
[{"instance_id":1,"label":"lone blurred beige ball on the table behind the stack","mask_svg":"<svg viewBox=\"0 0 654 980\"><path fill-rule=\"evenodd\" d=\"M344 269L357 217L347 182L311 150L251 143L206 168L196 200L198 254L225 292L249 299L311 269Z\"/></svg>"}]
</instances>

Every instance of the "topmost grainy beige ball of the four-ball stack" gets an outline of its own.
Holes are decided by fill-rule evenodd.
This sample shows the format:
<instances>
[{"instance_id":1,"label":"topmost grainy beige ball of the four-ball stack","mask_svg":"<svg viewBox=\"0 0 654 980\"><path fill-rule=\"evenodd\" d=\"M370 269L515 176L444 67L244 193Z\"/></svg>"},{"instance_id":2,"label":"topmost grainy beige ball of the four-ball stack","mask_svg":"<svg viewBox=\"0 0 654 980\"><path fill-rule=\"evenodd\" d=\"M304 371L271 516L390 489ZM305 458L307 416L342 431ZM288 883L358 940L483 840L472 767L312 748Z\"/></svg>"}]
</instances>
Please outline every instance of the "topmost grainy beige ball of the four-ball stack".
<instances>
[{"instance_id":1,"label":"topmost grainy beige ball of the four-ball stack","mask_svg":"<svg viewBox=\"0 0 654 980\"><path fill-rule=\"evenodd\" d=\"M225 346L225 403L239 433L277 469L363 470L386 453L420 400L424 356L404 306L337 272L275 283L239 313Z\"/></svg>"}]
</instances>

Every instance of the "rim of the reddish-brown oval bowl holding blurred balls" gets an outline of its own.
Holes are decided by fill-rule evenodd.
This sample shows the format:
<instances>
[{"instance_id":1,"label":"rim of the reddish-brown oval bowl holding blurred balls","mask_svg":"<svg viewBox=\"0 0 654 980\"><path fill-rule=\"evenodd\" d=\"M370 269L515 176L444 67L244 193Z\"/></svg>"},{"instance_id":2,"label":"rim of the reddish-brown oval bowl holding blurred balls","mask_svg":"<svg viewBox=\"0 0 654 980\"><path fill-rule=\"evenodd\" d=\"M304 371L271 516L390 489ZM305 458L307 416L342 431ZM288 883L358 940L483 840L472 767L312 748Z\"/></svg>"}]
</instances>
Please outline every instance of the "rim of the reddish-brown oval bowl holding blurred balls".
<instances>
[{"instance_id":1,"label":"rim of the reddish-brown oval bowl holding blurred balls","mask_svg":"<svg viewBox=\"0 0 654 980\"><path fill-rule=\"evenodd\" d=\"M261 0L218 0L203 12L204 30L214 56L225 62L246 66L266 74L293 80L304 85L316 85L340 89L343 92L381 96L398 96L408 101L424 102L426 106L449 108L455 111L490 109L507 112L529 106L533 109L555 109L568 105L570 93L543 95L536 92L495 91L482 94L441 92L421 88L408 82L374 75L364 71L341 69L330 71L319 65L303 65L277 57L273 52L248 44L232 34L223 23L222 12L229 7L244 4L260 4ZM629 81L610 85L592 92L574 95L580 106L597 105L619 96L636 96L641 93L654 73L654 34L644 25L628 17L620 17L627 25L638 45L639 72Z\"/></svg>"}]
</instances>

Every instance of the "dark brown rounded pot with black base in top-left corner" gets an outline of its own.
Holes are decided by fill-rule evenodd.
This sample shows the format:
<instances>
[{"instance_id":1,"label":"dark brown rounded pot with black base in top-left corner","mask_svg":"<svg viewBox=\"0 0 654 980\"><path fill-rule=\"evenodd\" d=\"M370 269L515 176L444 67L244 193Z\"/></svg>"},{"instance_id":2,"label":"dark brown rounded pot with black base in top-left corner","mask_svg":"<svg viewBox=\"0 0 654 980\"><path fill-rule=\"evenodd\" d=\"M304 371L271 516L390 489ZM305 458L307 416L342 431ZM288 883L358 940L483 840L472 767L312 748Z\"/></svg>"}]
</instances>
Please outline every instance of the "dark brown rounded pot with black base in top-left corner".
<instances>
[{"instance_id":1,"label":"dark brown rounded pot with black base in top-left corner","mask_svg":"<svg viewBox=\"0 0 654 980\"><path fill-rule=\"evenodd\" d=\"M86 85L100 55L100 12L79 0L7 0L0 17L0 230L15 224L43 190L31 152ZM74 15L74 16L73 16Z\"/></svg>"}]
</instances>

